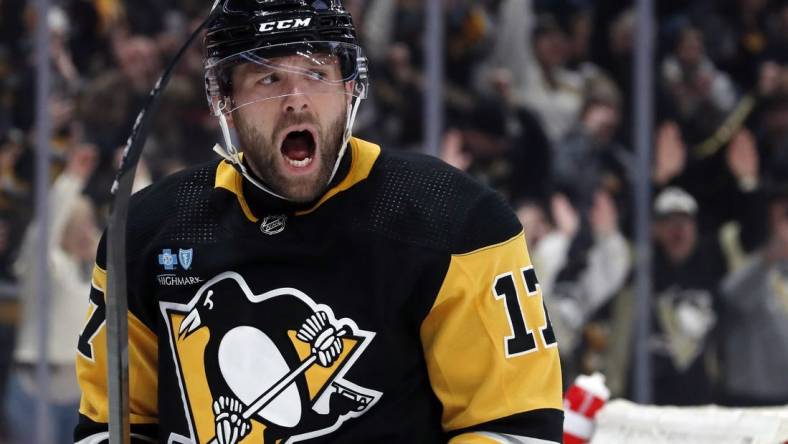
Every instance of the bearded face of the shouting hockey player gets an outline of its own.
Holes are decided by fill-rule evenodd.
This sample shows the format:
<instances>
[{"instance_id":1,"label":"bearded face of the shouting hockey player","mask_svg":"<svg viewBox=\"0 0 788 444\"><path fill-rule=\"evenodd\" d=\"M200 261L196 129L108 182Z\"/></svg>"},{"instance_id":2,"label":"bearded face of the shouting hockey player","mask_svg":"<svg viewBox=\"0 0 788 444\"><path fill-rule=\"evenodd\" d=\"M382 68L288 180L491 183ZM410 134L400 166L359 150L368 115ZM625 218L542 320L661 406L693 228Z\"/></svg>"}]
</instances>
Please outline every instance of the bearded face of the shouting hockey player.
<instances>
[{"instance_id":1,"label":"bearded face of the shouting hockey player","mask_svg":"<svg viewBox=\"0 0 788 444\"><path fill-rule=\"evenodd\" d=\"M339 81L337 63L319 72L298 56L279 63L295 69L249 63L233 72L234 99L249 104L233 111L231 122L252 171L274 192L309 202L325 192L336 163L350 86Z\"/></svg>"}]
</instances>

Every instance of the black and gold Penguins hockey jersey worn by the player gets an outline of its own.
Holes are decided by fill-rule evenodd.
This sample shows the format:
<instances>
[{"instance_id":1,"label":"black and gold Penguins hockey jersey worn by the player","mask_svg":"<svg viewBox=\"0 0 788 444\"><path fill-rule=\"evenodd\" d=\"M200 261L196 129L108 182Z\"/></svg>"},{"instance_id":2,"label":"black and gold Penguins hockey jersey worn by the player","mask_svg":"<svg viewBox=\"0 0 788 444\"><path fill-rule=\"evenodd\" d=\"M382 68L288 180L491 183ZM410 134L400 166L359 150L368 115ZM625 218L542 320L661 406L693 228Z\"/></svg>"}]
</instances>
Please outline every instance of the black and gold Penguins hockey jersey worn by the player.
<instances>
[{"instance_id":1,"label":"black and gold Penguins hockey jersey worn by the player","mask_svg":"<svg viewBox=\"0 0 788 444\"><path fill-rule=\"evenodd\" d=\"M132 198L133 441L561 442L556 340L511 210L438 160L350 145L308 206L224 161ZM77 442L107 437L104 248Z\"/></svg>"}]
</instances>

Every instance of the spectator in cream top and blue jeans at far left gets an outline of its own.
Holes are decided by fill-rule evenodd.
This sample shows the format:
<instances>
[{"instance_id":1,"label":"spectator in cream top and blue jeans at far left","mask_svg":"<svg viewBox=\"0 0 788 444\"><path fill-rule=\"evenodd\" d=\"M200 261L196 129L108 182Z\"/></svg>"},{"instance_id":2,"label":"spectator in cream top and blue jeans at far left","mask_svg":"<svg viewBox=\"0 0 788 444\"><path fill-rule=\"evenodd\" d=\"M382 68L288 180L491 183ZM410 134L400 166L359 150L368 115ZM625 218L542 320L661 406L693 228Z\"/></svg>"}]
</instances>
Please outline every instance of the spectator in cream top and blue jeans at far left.
<instances>
[{"instance_id":1,"label":"spectator in cream top and blue jeans at far left","mask_svg":"<svg viewBox=\"0 0 788 444\"><path fill-rule=\"evenodd\" d=\"M36 304L39 276L36 270L36 224L25 236L15 269L21 284L22 319L14 353L16 368L11 376L5 414L14 442L32 442L36 430L36 399L50 400L55 443L70 443L77 423L79 387L74 373L74 347L84 321L85 292L90 289L93 255L98 246L90 202L81 190L95 167L95 148L71 152L66 171L52 187L50 204L49 261L51 304L47 364L50 391L40 393L35 384L35 366L41 359L38 349L38 322L42 313Z\"/></svg>"}]
</instances>

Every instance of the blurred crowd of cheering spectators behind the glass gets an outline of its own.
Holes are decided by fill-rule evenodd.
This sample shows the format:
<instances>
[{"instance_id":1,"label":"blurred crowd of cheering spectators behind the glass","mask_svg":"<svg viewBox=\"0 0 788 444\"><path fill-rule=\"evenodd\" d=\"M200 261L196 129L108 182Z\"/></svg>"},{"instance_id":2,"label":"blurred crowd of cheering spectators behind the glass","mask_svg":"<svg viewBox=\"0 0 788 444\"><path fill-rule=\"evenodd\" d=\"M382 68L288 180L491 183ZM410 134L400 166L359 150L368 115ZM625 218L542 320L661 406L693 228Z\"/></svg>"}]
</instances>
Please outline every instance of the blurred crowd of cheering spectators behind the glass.
<instances>
[{"instance_id":1,"label":"blurred crowd of cheering spectators behind the glass","mask_svg":"<svg viewBox=\"0 0 788 444\"><path fill-rule=\"evenodd\" d=\"M0 0L0 395L10 406L37 395L33 55L35 27L46 23L50 318L63 324L48 356L60 378L52 392L70 394L53 399L71 409L78 398L63 369L73 357L60 348L71 353L68 338L81 327L69 308L87 306L119 150L163 65L212 2L52 3L38 17L32 2ZM657 404L788 404L788 1L655 3L650 171L634 163L639 30L623 0L444 0L441 156L517 211L567 381L601 371L615 396L628 397L634 350L646 347ZM421 150L431 93L424 2L344 4L372 82L355 134ZM137 188L213 158L219 138L203 82L195 44L164 95ZM654 189L653 332L636 344L633 184L644 175ZM25 424L8 410L6 421Z\"/></svg>"}]
</instances>

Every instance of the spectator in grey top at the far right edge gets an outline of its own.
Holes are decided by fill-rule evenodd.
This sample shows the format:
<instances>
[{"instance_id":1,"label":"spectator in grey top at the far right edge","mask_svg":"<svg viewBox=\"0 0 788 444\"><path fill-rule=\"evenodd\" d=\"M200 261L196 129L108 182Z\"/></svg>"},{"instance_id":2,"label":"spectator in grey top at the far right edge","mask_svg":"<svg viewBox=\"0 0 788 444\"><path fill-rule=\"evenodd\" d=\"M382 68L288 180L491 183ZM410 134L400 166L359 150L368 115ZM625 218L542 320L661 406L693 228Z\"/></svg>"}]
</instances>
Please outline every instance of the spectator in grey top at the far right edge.
<instances>
[{"instance_id":1,"label":"spectator in grey top at the far right edge","mask_svg":"<svg viewBox=\"0 0 788 444\"><path fill-rule=\"evenodd\" d=\"M788 403L788 189L770 193L766 245L722 285L722 402Z\"/></svg>"}]
</instances>

